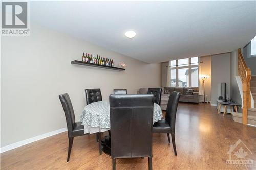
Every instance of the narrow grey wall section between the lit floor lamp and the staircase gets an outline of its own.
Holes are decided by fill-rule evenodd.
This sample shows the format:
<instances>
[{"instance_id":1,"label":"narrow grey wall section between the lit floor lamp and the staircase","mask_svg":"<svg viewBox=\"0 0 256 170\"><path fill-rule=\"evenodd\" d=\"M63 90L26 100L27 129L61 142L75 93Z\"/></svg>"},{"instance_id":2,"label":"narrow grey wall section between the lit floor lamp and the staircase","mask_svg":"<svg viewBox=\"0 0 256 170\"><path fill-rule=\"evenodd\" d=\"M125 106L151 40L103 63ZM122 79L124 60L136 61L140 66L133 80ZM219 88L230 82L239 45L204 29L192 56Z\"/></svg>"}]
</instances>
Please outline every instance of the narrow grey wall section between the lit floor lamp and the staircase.
<instances>
[{"instance_id":1,"label":"narrow grey wall section between the lit floor lamp and the staircase","mask_svg":"<svg viewBox=\"0 0 256 170\"><path fill-rule=\"evenodd\" d=\"M211 56L211 104L217 104L222 82L226 82L227 95L230 98L230 53Z\"/></svg>"}]
</instances>

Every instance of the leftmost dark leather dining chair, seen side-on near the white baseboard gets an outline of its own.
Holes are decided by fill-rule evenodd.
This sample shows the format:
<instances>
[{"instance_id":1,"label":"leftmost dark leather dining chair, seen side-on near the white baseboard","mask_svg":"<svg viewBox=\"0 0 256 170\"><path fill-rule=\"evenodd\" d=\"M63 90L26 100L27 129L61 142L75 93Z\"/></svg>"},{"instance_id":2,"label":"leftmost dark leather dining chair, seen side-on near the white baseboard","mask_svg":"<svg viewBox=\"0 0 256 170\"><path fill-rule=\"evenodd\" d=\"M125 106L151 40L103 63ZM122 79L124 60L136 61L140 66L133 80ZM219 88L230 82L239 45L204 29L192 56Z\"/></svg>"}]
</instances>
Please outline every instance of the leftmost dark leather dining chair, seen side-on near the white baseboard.
<instances>
[{"instance_id":1,"label":"leftmost dark leather dining chair, seen side-on near the white baseboard","mask_svg":"<svg viewBox=\"0 0 256 170\"><path fill-rule=\"evenodd\" d=\"M84 134L83 125L81 125L82 123L75 122L75 114L74 114L71 100L69 98L69 94L65 93L65 94L59 95L59 100L62 104L64 113L65 113L67 128L68 128L69 150L68 150L67 162L69 162L74 137L87 135L89 133ZM101 155L102 151L101 151L101 136L100 135L99 135L99 141L100 141L99 142L99 154Z\"/></svg>"}]
</instances>

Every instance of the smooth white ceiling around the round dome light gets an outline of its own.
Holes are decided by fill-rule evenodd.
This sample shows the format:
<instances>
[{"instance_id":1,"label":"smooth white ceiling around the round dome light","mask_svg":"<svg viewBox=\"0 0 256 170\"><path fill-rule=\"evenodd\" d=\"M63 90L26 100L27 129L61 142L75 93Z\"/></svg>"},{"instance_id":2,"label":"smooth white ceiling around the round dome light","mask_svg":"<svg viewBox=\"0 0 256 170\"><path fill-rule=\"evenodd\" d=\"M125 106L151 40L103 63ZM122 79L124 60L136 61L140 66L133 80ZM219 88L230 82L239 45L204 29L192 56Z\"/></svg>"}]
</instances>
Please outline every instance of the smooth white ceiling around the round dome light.
<instances>
[{"instance_id":1,"label":"smooth white ceiling around the round dome light","mask_svg":"<svg viewBox=\"0 0 256 170\"><path fill-rule=\"evenodd\" d=\"M256 1L31 2L31 20L147 63L233 51L256 35ZM136 31L133 39L124 32Z\"/></svg>"}]
</instances>

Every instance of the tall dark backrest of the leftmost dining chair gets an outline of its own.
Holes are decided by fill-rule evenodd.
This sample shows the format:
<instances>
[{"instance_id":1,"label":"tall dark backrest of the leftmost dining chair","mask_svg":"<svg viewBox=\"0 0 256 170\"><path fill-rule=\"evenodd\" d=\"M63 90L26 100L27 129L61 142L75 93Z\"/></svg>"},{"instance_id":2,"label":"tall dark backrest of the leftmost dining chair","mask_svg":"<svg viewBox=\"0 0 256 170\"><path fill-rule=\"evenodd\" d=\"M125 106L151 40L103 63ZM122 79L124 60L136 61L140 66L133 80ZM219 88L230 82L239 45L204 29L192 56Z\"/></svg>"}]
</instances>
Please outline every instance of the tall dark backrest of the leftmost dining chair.
<instances>
[{"instance_id":1,"label":"tall dark backrest of the leftmost dining chair","mask_svg":"<svg viewBox=\"0 0 256 170\"><path fill-rule=\"evenodd\" d=\"M71 100L69 98L69 94L61 94L59 95L59 100L62 104L65 117L66 117L66 122L67 122L67 127L68 127L68 136L72 136L72 131L73 131L73 125L76 121L75 114L74 114L74 109L71 103Z\"/></svg>"}]
</instances>

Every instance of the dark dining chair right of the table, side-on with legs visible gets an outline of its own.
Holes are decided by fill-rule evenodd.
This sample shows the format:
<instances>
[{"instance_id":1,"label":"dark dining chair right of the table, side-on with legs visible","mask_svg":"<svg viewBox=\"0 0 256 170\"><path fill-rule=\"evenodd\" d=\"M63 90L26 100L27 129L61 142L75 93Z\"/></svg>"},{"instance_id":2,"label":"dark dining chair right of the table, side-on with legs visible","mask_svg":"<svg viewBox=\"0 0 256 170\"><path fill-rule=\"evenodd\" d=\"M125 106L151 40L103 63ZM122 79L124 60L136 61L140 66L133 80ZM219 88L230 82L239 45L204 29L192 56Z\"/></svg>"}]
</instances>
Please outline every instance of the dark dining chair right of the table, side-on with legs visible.
<instances>
[{"instance_id":1,"label":"dark dining chair right of the table, side-on with legs visible","mask_svg":"<svg viewBox=\"0 0 256 170\"><path fill-rule=\"evenodd\" d=\"M170 93L165 119L159 120L153 125L153 133L167 133L168 141L170 143L170 135L172 135L172 142L174 148L174 154L177 156L176 144L175 144L175 120L176 112L180 99L180 92L173 91Z\"/></svg>"}]
</instances>

